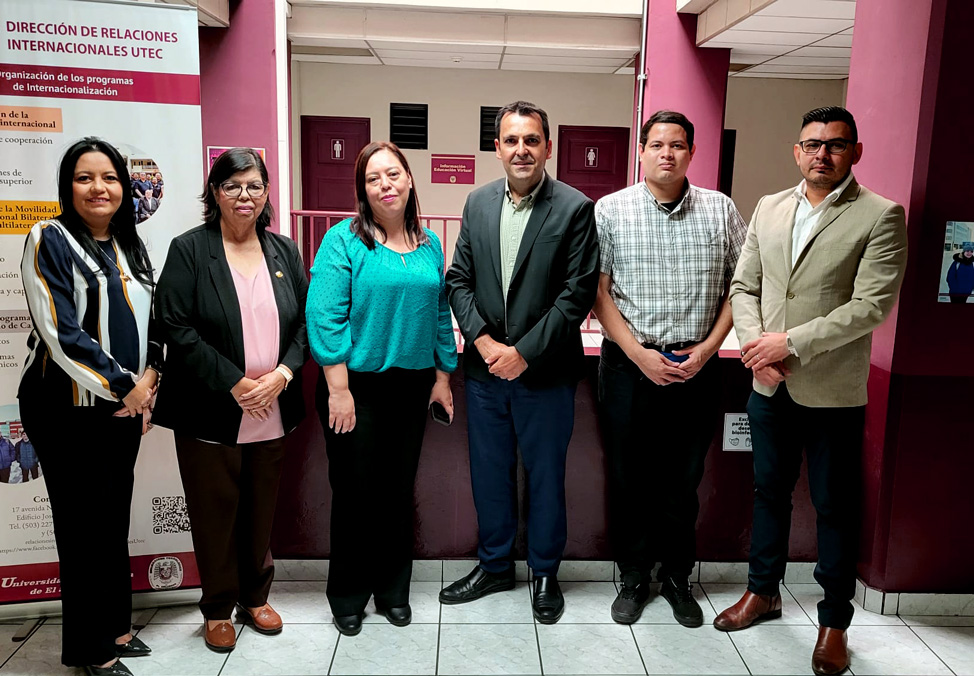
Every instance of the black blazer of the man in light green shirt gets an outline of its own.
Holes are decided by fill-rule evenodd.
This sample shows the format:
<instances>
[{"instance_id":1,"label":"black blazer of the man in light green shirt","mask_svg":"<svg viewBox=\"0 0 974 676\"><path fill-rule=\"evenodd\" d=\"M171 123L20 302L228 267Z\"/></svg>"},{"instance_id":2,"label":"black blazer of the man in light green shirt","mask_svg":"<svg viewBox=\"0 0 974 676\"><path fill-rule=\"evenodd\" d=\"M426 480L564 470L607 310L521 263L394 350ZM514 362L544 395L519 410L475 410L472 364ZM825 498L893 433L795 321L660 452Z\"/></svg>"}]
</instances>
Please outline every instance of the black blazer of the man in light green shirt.
<instances>
[{"instance_id":1,"label":"black blazer of the man in light green shirt","mask_svg":"<svg viewBox=\"0 0 974 676\"><path fill-rule=\"evenodd\" d=\"M506 179L470 193L453 265L446 273L453 314L466 341L463 369L487 380L474 346L482 333L513 345L528 363L528 387L578 382L585 371L579 332L595 303L599 244L592 200L546 176L524 229L505 313L501 292L500 215Z\"/></svg>"}]
</instances>

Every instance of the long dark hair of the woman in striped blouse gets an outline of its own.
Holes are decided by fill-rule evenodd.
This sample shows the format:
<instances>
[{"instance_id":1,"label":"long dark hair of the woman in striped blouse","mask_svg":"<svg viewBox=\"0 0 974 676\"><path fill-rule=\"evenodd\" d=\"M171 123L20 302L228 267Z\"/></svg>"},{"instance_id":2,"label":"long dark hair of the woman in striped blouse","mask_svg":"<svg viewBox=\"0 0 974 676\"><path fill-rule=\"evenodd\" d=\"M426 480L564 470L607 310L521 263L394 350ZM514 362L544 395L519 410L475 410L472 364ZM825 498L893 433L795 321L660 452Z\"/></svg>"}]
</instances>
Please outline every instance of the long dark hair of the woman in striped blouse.
<instances>
[{"instance_id":1,"label":"long dark hair of the woman in striped blouse","mask_svg":"<svg viewBox=\"0 0 974 676\"><path fill-rule=\"evenodd\" d=\"M145 244L135 229L132 180L125 159L111 143L96 136L86 136L64 152L58 167L58 199L61 202L61 213L57 215L57 219L81 245L85 253L98 261L102 270L107 272L111 267L111 261L105 258L105 254L95 243L91 230L88 229L78 210L74 208L74 170L81 156L87 153L102 153L107 156L118 175L119 187L122 189L122 203L118 211L112 215L109 232L118 242L135 278L151 286L153 284L152 263L149 261Z\"/></svg>"}]
</instances>

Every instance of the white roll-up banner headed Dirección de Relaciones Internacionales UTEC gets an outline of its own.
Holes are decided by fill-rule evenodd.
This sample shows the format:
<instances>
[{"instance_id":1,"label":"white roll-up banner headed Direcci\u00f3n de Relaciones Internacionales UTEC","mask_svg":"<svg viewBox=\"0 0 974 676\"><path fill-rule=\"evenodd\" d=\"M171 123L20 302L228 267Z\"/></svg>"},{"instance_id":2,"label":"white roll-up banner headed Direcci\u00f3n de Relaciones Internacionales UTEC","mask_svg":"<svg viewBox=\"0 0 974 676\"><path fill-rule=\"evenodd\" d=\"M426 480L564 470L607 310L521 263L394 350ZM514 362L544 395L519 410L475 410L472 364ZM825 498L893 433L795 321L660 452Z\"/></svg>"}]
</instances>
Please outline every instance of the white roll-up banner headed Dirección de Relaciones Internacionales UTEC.
<instances>
[{"instance_id":1,"label":"white roll-up banner headed Direcci\u00f3n de Relaciones Internacionales UTEC","mask_svg":"<svg viewBox=\"0 0 974 676\"><path fill-rule=\"evenodd\" d=\"M170 240L201 222L199 79L194 8L0 0L0 603L60 592L44 465L17 406L31 329L20 280L25 235L58 212L61 155L98 136L126 158L133 186L152 191L142 209L135 201L121 208L141 213L139 231L158 275ZM101 484L104 462L92 455L76 480L114 490ZM169 431L143 437L135 474L133 589L199 584Z\"/></svg>"}]
</instances>

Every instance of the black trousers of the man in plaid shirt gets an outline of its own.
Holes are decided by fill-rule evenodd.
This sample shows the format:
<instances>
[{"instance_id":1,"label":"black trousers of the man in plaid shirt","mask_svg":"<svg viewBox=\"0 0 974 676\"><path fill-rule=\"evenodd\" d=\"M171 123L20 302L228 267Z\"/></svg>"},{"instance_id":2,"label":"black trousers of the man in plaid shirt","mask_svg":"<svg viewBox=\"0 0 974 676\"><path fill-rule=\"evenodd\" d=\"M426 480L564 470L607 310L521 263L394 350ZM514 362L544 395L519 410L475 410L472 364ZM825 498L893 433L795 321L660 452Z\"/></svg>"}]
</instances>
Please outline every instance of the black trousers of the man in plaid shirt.
<instances>
[{"instance_id":1,"label":"black trousers of the man in plaid shirt","mask_svg":"<svg viewBox=\"0 0 974 676\"><path fill-rule=\"evenodd\" d=\"M608 340L599 417L609 471L609 533L623 580L686 579L696 561L697 488L713 440L720 380L712 358L690 380L657 385Z\"/></svg>"}]
</instances>

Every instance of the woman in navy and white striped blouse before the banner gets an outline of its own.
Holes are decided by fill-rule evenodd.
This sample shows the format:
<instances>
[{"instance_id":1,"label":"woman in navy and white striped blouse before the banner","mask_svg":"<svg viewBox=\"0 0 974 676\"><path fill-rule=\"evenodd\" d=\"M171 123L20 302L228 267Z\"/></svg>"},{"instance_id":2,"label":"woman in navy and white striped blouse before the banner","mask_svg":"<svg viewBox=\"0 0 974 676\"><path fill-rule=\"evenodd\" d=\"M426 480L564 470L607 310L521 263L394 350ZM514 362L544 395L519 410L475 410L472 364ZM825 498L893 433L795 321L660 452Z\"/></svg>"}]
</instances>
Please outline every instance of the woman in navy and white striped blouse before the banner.
<instances>
[{"instance_id":1,"label":"woman in navy and white striped blouse before the banner","mask_svg":"<svg viewBox=\"0 0 974 676\"><path fill-rule=\"evenodd\" d=\"M34 329L20 416L50 498L61 576L61 661L130 674L129 513L161 346L149 338L152 268L125 161L84 138L58 171L61 213L27 236L21 279ZM121 207L121 208L120 208Z\"/></svg>"}]
</instances>

